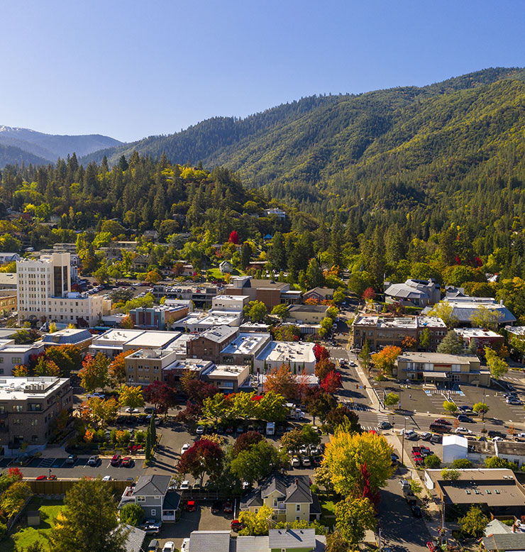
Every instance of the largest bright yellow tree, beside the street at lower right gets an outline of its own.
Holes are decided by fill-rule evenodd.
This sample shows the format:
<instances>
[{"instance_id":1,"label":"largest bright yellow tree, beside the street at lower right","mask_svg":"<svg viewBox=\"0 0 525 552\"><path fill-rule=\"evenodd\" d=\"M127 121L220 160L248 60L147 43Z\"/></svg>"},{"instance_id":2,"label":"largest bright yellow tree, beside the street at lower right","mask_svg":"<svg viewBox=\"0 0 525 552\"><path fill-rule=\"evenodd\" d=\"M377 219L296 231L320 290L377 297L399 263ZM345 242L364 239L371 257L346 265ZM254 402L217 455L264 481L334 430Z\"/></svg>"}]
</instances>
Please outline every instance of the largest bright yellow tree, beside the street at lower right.
<instances>
[{"instance_id":1,"label":"largest bright yellow tree, beside the street at lower right","mask_svg":"<svg viewBox=\"0 0 525 552\"><path fill-rule=\"evenodd\" d=\"M382 435L337 431L326 445L324 462L332 474L335 490L355 496L363 464L370 473L370 487L377 490L385 486L392 475L391 454L392 447Z\"/></svg>"}]
</instances>

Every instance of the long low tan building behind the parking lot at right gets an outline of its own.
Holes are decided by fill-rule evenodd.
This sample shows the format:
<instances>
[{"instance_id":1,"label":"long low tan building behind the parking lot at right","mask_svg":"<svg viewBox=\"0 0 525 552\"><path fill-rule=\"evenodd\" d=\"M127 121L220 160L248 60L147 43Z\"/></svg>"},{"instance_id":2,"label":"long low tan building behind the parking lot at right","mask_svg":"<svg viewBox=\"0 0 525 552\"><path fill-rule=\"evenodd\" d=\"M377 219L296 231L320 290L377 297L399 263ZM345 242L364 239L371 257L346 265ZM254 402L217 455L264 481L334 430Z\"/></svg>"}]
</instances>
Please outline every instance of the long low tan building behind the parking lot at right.
<instances>
[{"instance_id":1,"label":"long low tan building behind the parking lot at right","mask_svg":"<svg viewBox=\"0 0 525 552\"><path fill-rule=\"evenodd\" d=\"M490 370L475 355L404 351L397 357L394 377L425 383L490 384Z\"/></svg>"}]
</instances>

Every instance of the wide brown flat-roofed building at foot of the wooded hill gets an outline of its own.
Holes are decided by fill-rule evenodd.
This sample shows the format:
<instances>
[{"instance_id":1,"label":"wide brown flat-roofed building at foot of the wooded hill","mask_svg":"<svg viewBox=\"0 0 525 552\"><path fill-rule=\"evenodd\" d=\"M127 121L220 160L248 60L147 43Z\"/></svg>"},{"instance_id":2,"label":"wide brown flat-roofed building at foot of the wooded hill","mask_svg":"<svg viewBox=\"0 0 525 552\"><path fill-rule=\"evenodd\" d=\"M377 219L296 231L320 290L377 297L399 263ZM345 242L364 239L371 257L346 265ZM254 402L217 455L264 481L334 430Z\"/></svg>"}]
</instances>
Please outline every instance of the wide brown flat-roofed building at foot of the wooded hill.
<instances>
[{"instance_id":1,"label":"wide brown flat-roofed building at foot of the wooded hill","mask_svg":"<svg viewBox=\"0 0 525 552\"><path fill-rule=\"evenodd\" d=\"M248 301L261 301L268 311L278 304L301 302L301 292L290 289L289 284L274 280L255 280L251 276L232 278L224 292L229 295L248 295Z\"/></svg>"}]
</instances>

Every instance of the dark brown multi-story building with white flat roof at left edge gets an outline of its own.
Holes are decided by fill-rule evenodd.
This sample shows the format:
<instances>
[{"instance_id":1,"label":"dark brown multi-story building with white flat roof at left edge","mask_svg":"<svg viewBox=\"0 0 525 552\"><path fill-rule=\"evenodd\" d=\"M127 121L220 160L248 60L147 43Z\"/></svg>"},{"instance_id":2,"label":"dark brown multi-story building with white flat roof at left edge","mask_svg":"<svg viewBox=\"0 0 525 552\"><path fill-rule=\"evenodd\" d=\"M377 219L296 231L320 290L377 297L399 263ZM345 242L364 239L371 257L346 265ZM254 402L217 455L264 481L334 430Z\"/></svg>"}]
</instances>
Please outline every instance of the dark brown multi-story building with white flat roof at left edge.
<instances>
[{"instance_id":1,"label":"dark brown multi-story building with white flat roof at left edge","mask_svg":"<svg viewBox=\"0 0 525 552\"><path fill-rule=\"evenodd\" d=\"M0 439L6 455L44 448L60 412L73 411L70 380L58 377L0 379Z\"/></svg>"}]
</instances>

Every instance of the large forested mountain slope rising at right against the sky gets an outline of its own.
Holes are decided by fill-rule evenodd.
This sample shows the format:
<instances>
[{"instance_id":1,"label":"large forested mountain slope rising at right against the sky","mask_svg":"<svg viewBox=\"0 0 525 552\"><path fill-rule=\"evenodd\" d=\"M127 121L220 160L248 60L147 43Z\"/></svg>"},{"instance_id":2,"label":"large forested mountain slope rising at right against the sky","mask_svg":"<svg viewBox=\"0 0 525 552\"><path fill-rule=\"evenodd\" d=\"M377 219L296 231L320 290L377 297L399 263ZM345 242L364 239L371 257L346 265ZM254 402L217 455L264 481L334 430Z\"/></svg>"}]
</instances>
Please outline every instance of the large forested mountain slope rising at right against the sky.
<instances>
[{"instance_id":1,"label":"large forested mountain slope rising at right against the sky","mask_svg":"<svg viewBox=\"0 0 525 552\"><path fill-rule=\"evenodd\" d=\"M331 202L339 207L343 197L355 202L347 192L365 180L370 185L402 174L416 182L426 168L451 163L462 175L474 175L502 155L509 140L519 144L524 81L525 70L497 67L426 87L311 96L244 119L211 118L170 136L92 153L82 162L106 155L111 165L133 150L165 153L172 162L225 165L245 184L265 186L273 197L300 202L303 209L318 209L330 194L339 197Z\"/></svg>"}]
</instances>

